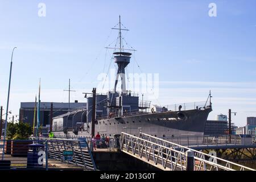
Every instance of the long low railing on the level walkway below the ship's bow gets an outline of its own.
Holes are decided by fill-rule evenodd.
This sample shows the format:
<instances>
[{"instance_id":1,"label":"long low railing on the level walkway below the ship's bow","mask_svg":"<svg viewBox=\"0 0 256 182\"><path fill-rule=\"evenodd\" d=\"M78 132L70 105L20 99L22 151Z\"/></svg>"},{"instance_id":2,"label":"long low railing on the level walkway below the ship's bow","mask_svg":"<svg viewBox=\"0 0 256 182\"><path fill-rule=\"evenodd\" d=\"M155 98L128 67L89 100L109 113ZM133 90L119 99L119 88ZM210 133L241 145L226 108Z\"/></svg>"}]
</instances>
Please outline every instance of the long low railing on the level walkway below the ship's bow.
<instances>
[{"instance_id":1,"label":"long low railing on the level walkway below the ship's bow","mask_svg":"<svg viewBox=\"0 0 256 182\"><path fill-rule=\"evenodd\" d=\"M218 145L241 145L241 137L239 135L188 135L176 137L163 137L162 139L177 143L183 146L218 146Z\"/></svg>"}]
</instances>

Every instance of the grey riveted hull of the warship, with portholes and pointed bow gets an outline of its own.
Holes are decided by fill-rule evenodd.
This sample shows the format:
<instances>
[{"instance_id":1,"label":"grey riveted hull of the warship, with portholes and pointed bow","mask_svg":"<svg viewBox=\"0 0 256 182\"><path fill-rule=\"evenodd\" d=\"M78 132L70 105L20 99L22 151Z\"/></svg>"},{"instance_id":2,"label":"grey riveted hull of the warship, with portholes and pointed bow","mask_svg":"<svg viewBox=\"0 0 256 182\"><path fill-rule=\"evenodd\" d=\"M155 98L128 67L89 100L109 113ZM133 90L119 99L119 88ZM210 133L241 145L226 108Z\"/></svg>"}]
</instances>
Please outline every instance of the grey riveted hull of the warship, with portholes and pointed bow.
<instances>
[{"instance_id":1,"label":"grey riveted hull of the warship, with portholes and pointed bow","mask_svg":"<svg viewBox=\"0 0 256 182\"><path fill-rule=\"evenodd\" d=\"M203 135L210 111L212 108L207 107L204 110L167 111L100 119L96 122L95 133L99 132L110 137L121 132L138 136L139 131L156 137ZM78 135L90 135L91 129L91 123L88 123L88 131L79 131ZM68 132L68 134L73 133Z\"/></svg>"}]
</instances>

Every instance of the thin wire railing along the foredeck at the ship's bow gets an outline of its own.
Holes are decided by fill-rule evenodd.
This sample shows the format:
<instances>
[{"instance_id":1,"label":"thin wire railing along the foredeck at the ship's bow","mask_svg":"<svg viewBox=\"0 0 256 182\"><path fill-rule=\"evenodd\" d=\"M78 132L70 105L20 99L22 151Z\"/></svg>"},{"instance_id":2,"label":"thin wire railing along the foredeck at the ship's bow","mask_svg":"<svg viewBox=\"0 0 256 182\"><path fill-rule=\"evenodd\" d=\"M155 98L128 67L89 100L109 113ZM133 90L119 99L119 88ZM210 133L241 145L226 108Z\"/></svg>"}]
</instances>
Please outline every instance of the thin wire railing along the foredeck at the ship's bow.
<instances>
[{"instance_id":1,"label":"thin wire railing along the foredeck at the ship's bow","mask_svg":"<svg viewBox=\"0 0 256 182\"><path fill-rule=\"evenodd\" d=\"M209 101L201 101L201 102L188 102L188 103L180 103L180 104L163 105L161 107L165 107L167 108L167 110L179 111L179 110L193 110L193 109L204 110L209 106L210 106Z\"/></svg>"}]
</instances>

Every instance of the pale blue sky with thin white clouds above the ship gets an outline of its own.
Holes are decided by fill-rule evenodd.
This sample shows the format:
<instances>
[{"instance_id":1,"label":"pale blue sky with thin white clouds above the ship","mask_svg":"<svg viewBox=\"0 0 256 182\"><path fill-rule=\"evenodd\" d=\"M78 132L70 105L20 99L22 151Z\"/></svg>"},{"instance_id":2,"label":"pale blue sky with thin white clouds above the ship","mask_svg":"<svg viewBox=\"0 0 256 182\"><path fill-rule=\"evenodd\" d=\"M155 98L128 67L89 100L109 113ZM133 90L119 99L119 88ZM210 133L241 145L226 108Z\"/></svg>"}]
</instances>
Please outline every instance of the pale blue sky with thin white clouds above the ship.
<instances>
[{"instance_id":1,"label":"pale blue sky with thin white clouds above the ship","mask_svg":"<svg viewBox=\"0 0 256 182\"><path fill-rule=\"evenodd\" d=\"M210 17L209 3L217 16ZM46 4L46 17L38 4ZM122 23L127 42L137 49L129 73L158 73L156 104L206 100L213 111L237 111L233 122L256 116L256 1L0 1L0 105L6 107L10 58L14 52L10 110L34 101L42 79L42 101L85 101L81 92L98 85L107 72L117 38L110 28ZM140 68L138 68L138 65ZM104 66L105 65L105 66ZM110 68L115 68L114 63ZM154 102L154 100L153 100Z\"/></svg>"}]
</instances>

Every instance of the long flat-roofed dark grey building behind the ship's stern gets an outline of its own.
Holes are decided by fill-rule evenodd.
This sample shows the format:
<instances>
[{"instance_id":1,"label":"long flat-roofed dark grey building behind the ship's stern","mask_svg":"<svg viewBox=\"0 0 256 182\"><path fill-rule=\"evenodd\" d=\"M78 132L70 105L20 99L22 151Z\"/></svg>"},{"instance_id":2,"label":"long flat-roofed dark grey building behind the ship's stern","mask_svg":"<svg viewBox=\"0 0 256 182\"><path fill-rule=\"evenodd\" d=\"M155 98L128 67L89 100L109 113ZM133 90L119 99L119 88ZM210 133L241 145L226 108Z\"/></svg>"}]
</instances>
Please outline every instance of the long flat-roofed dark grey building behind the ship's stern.
<instances>
[{"instance_id":1,"label":"long flat-roofed dark grey building behind the ship's stern","mask_svg":"<svg viewBox=\"0 0 256 182\"><path fill-rule=\"evenodd\" d=\"M37 104L36 104L37 106ZM53 102L53 117L61 114L68 113L68 107L70 110L86 108L86 103L79 103L77 101L69 103ZM21 102L19 109L19 121L30 123L33 126L34 123L35 102ZM51 113L51 102L40 102L40 125L49 125ZM35 115L35 121L37 121L37 114ZM36 125L37 122L35 122Z\"/></svg>"}]
</instances>

